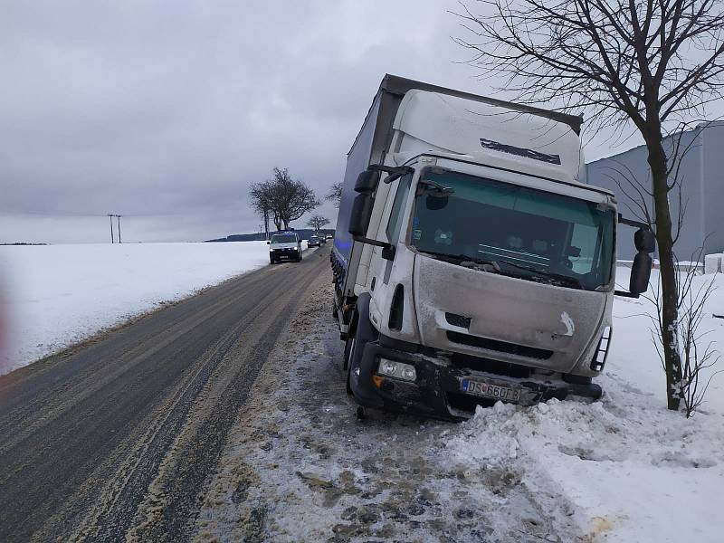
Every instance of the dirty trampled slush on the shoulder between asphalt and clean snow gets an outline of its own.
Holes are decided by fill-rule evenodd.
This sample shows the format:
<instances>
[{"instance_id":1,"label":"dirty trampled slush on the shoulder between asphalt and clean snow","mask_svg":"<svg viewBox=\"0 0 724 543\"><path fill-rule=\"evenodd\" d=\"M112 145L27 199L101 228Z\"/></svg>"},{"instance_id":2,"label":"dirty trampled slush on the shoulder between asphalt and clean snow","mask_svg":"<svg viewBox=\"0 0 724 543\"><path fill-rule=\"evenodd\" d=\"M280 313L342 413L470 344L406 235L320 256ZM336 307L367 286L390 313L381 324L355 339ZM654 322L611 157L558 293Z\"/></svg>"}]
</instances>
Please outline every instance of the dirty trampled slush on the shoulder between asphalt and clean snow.
<instances>
[{"instance_id":1,"label":"dirty trampled slush on the shoulder between asphalt and clean snow","mask_svg":"<svg viewBox=\"0 0 724 543\"><path fill-rule=\"evenodd\" d=\"M459 425L371 413L345 392L329 277L280 338L234 425L197 541L533 541L576 530L508 463L451 462ZM271 363L271 360L274 362Z\"/></svg>"}]
</instances>

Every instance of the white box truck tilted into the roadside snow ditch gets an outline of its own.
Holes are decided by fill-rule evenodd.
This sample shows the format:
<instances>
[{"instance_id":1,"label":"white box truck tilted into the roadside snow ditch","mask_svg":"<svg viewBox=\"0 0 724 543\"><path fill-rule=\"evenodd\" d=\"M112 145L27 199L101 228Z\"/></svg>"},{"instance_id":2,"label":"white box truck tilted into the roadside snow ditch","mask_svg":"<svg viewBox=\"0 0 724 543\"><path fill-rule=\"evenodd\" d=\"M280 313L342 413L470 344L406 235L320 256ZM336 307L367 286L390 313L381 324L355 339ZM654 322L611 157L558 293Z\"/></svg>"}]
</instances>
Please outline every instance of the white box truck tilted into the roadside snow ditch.
<instances>
[{"instance_id":1,"label":"white box truck tilted into the roadside snow ditch","mask_svg":"<svg viewBox=\"0 0 724 543\"><path fill-rule=\"evenodd\" d=\"M348 153L331 252L348 392L462 419L476 405L595 399L612 334L618 225L586 185L582 118L391 75Z\"/></svg>"}]
</instances>

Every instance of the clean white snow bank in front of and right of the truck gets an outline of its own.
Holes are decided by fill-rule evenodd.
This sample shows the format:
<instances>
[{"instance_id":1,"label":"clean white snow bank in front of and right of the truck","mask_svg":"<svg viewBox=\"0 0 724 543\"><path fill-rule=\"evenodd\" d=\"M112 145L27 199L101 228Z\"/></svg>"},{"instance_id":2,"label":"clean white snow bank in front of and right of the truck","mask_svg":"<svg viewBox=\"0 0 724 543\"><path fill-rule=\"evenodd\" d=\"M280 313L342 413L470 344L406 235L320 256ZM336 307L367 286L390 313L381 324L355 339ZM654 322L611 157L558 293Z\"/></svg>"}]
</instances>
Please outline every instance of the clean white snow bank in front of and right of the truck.
<instances>
[{"instance_id":1,"label":"clean white snow bank in front of and right of the truck","mask_svg":"<svg viewBox=\"0 0 724 543\"><path fill-rule=\"evenodd\" d=\"M628 270L619 269L617 280L627 284ZM715 281L701 327L721 351L724 320L713 313L724 312L724 276ZM554 510L557 500L574 504L572 518L592 541L719 542L724 378L713 376L693 419L668 411L649 332L653 311L648 300L614 302L612 351L597 380L605 391L601 401L479 408L449 443L450 462L515 466L542 508Z\"/></svg>"}]
</instances>

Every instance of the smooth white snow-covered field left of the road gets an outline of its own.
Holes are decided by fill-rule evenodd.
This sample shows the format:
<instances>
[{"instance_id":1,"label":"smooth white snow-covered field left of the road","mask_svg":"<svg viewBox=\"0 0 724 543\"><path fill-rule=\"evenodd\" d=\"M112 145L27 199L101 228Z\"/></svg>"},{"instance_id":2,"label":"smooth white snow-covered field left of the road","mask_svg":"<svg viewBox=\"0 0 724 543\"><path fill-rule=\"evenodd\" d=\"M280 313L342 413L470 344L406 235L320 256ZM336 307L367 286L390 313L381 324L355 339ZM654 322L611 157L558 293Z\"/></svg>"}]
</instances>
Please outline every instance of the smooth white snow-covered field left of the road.
<instances>
[{"instance_id":1,"label":"smooth white snow-covered field left of the road","mask_svg":"<svg viewBox=\"0 0 724 543\"><path fill-rule=\"evenodd\" d=\"M0 246L0 375L268 263L264 242Z\"/></svg>"}]
</instances>

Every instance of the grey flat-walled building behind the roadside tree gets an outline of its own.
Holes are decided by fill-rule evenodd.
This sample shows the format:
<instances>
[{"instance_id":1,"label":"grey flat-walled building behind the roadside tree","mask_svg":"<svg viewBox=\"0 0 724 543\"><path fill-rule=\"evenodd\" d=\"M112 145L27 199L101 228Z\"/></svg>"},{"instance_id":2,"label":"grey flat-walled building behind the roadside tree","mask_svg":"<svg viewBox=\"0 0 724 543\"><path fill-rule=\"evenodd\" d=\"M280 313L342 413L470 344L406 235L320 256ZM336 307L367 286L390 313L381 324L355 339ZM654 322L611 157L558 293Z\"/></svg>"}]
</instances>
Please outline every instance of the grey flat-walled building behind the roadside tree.
<instances>
[{"instance_id":1,"label":"grey flat-walled building behind the roadside tree","mask_svg":"<svg viewBox=\"0 0 724 543\"><path fill-rule=\"evenodd\" d=\"M677 138L678 135L673 139L667 138L664 148L670 151ZM724 122L702 123L695 129L682 132L680 148L688 149L680 170L681 201L685 203L685 214L674 251L680 261L688 261L702 244L704 254L724 252ZM634 218L635 206L624 190L638 197L627 180L631 176L643 186L651 186L647 155L645 146L641 146L614 157L590 162L586 165L587 183L612 190L618 200L619 213ZM653 214L653 203L650 197L647 199ZM675 190L672 191L670 203L673 221L676 221L679 212L679 200ZM621 225L618 257L630 260L635 252L633 229Z\"/></svg>"}]
</instances>

